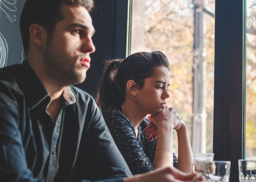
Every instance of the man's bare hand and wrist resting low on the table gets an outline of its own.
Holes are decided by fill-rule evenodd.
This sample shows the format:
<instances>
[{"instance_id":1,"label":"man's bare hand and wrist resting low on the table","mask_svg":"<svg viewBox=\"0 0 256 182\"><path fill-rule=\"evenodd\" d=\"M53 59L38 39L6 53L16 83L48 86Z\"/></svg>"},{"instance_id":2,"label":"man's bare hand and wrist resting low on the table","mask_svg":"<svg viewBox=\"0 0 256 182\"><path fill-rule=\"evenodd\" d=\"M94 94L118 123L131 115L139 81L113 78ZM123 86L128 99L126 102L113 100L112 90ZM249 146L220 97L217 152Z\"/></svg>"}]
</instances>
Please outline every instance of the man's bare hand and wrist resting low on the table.
<instances>
[{"instance_id":1,"label":"man's bare hand and wrist resting low on the table","mask_svg":"<svg viewBox=\"0 0 256 182\"><path fill-rule=\"evenodd\" d=\"M124 182L206 182L203 177L197 174L183 173L171 167L159 168L146 174L134 175L125 178Z\"/></svg>"}]
</instances>

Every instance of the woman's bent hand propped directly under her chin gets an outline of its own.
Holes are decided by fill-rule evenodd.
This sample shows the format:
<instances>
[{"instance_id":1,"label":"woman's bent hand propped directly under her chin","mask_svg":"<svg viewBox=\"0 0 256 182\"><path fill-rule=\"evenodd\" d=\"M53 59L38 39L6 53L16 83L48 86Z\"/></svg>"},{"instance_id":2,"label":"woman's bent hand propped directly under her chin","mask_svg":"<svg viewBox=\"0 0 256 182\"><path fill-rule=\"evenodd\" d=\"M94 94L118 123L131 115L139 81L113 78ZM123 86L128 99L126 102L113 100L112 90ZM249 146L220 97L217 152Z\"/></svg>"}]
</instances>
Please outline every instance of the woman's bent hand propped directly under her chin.
<instances>
[{"instance_id":1,"label":"woman's bent hand propped directly under her chin","mask_svg":"<svg viewBox=\"0 0 256 182\"><path fill-rule=\"evenodd\" d=\"M151 115L151 119L157 127L171 127L180 128L182 122L179 124L180 120L183 118L182 115L177 115L176 111L172 107L166 106L157 115Z\"/></svg>"}]
</instances>

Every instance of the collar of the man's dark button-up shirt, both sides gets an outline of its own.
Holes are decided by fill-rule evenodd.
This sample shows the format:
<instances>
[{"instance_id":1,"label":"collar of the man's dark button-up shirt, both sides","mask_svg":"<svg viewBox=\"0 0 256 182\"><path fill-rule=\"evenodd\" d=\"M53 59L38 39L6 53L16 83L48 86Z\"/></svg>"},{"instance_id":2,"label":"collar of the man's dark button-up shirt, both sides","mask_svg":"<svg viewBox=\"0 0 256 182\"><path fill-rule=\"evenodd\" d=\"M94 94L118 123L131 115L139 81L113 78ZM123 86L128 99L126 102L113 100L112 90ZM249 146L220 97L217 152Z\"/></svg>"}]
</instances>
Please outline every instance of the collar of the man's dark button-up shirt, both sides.
<instances>
[{"instance_id":1,"label":"collar of the man's dark button-up shirt, both sides","mask_svg":"<svg viewBox=\"0 0 256 182\"><path fill-rule=\"evenodd\" d=\"M24 60L21 64L22 74L24 76L24 82L26 85L26 100L28 100L28 104L31 109L35 108L38 104L40 104L46 98L50 102L50 94L39 80L37 75L35 75L34 71L30 67L27 60ZM63 91L63 98L67 101L69 105L75 110L76 103L76 95L74 94L74 90L71 86L67 87Z\"/></svg>"}]
</instances>

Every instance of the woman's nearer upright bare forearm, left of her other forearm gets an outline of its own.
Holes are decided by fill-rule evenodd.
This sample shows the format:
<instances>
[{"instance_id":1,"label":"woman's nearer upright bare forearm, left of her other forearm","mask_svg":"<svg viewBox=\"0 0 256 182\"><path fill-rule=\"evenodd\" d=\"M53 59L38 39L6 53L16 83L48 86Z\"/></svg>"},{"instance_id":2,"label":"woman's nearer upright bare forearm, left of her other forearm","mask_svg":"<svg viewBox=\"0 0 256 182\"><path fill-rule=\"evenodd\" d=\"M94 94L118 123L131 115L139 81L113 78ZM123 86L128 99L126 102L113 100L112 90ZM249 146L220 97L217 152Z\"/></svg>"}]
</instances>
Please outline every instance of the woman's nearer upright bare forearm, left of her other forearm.
<instances>
[{"instance_id":1,"label":"woman's nearer upright bare forearm, left of her other forearm","mask_svg":"<svg viewBox=\"0 0 256 182\"><path fill-rule=\"evenodd\" d=\"M153 166L159 167L173 166L173 137L172 128L158 126L157 148Z\"/></svg>"}]
</instances>

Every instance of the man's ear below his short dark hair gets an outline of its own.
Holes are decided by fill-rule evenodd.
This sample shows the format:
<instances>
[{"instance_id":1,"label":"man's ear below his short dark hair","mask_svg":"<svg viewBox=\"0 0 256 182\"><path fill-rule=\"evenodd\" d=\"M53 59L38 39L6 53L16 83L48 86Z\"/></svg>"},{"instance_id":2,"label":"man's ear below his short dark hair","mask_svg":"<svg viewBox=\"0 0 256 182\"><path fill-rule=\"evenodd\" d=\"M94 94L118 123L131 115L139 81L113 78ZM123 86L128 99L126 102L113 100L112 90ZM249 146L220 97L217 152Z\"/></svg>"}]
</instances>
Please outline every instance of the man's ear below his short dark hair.
<instances>
[{"instance_id":1,"label":"man's ear below his short dark hair","mask_svg":"<svg viewBox=\"0 0 256 182\"><path fill-rule=\"evenodd\" d=\"M47 40L47 31L38 24L32 24L29 27L30 40L38 47L44 46Z\"/></svg>"}]
</instances>

